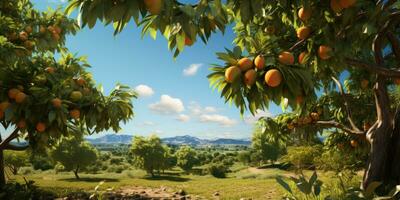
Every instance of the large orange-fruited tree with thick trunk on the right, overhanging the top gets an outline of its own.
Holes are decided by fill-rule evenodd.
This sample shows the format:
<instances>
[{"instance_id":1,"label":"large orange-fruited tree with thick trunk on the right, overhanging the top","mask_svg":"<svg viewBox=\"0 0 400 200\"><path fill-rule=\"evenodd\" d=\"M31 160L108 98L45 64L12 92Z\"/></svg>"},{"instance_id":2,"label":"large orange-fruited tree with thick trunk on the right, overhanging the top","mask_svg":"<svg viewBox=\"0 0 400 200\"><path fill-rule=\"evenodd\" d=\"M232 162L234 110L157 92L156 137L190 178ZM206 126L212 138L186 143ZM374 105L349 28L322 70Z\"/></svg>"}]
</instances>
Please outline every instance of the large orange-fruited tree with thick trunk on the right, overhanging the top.
<instances>
[{"instance_id":1,"label":"large orange-fruited tree with thick trunk on the right, overhanging the top","mask_svg":"<svg viewBox=\"0 0 400 200\"><path fill-rule=\"evenodd\" d=\"M398 1L70 0L67 12L74 9L89 27L98 21L112 23L118 33L133 19L144 34L155 38L160 31L174 56L197 38L207 42L212 32L224 32L233 22L238 47L218 53L224 64L212 68L209 76L227 102L242 113L266 109L271 101L282 103L307 114L306 123L366 138L370 152L363 186L400 183L400 115L389 96L400 83ZM343 79L352 90L345 91ZM319 116L308 105L332 91L342 96L340 114L346 120L310 119ZM369 104L375 104L365 109L376 113L367 130L352 115L358 105L348 103L364 93L371 93Z\"/></svg>"}]
</instances>

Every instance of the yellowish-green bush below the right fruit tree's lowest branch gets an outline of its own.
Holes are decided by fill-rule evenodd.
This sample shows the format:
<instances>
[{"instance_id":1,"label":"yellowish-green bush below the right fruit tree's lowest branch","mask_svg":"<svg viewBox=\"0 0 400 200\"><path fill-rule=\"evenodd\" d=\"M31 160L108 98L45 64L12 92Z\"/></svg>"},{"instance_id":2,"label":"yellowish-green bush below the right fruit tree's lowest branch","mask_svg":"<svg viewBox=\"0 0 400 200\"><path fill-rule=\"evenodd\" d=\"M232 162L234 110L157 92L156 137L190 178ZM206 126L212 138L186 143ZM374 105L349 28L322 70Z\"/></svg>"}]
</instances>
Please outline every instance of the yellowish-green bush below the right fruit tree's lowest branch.
<instances>
[{"instance_id":1,"label":"yellowish-green bush below the right fruit tree's lowest branch","mask_svg":"<svg viewBox=\"0 0 400 200\"><path fill-rule=\"evenodd\" d=\"M321 151L322 147L319 145L289 147L282 161L292 163L297 169L313 169L314 159L321 154Z\"/></svg>"}]
</instances>

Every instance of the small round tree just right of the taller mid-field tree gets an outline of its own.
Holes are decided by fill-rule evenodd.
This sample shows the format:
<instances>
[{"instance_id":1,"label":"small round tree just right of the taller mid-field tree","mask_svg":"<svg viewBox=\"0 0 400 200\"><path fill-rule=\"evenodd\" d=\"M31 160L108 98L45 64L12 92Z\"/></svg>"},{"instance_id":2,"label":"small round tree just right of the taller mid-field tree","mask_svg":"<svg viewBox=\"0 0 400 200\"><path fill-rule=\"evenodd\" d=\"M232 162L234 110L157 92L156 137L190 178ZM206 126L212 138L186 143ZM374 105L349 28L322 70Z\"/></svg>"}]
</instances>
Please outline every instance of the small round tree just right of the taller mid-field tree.
<instances>
[{"instance_id":1,"label":"small round tree just right of the taller mid-field tree","mask_svg":"<svg viewBox=\"0 0 400 200\"><path fill-rule=\"evenodd\" d=\"M177 165L183 170L190 171L197 163L197 154L190 146L181 146L175 153Z\"/></svg>"}]
</instances>

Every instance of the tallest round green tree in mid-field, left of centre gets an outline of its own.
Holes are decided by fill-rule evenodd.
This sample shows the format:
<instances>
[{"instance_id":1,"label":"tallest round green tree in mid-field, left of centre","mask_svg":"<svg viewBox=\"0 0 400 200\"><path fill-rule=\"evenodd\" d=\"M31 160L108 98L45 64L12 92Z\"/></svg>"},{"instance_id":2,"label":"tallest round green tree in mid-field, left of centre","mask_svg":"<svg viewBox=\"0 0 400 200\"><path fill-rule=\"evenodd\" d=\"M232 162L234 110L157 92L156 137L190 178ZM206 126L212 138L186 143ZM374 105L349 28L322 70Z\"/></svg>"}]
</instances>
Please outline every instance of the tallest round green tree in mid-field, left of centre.
<instances>
[{"instance_id":1,"label":"tallest round green tree in mid-field, left of centre","mask_svg":"<svg viewBox=\"0 0 400 200\"><path fill-rule=\"evenodd\" d=\"M155 135L149 138L135 136L132 140L131 153L135 165L154 177L155 171L159 172L168 166L166 164L167 151L169 151L167 148Z\"/></svg>"}]
</instances>

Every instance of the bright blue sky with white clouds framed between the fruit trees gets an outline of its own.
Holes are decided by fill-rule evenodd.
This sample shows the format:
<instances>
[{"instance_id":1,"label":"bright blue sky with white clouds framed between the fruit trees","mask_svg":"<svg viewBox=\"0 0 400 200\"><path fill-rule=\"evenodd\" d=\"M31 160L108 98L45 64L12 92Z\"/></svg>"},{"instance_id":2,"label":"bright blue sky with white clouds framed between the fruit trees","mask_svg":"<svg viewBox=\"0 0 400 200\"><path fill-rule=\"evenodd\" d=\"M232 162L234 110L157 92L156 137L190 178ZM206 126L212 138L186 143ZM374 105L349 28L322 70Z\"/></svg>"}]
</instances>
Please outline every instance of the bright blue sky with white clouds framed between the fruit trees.
<instances>
[{"instance_id":1,"label":"bright blue sky with white clouds framed between the fruit trees","mask_svg":"<svg viewBox=\"0 0 400 200\"><path fill-rule=\"evenodd\" d=\"M61 0L34 0L46 9L63 5ZM224 103L209 87L211 63L218 63L215 52L232 47L234 33L215 34L207 45L200 39L174 61L167 41L158 34L141 39L140 28L131 24L113 37L111 26L98 23L67 38L73 53L88 56L89 69L98 84L109 92L116 83L136 88L141 96L133 101L135 117L120 133L160 137L193 135L200 138L247 138L255 117L240 117L239 110ZM276 114L277 106L259 115ZM112 133L112 132L107 132Z\"/></svg>"}]
</instances>

